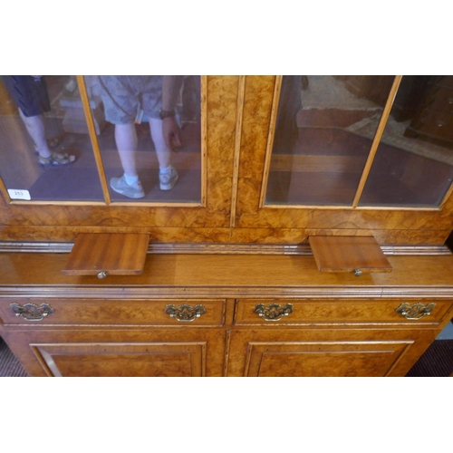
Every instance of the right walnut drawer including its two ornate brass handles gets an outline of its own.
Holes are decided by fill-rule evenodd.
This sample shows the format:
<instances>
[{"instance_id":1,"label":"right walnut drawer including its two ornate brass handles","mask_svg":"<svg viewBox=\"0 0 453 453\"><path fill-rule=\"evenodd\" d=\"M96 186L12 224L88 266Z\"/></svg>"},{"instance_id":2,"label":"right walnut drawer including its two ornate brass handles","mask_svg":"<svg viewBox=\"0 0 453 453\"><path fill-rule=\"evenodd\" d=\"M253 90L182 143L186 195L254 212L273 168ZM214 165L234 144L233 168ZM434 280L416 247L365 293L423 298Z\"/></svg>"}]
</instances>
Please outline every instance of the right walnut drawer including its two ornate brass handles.
<instances>
[{"instance_id":1,"label":"right walnut drawer including its two ornate brass handles","mask_svg":"<svg viewBox=\"0 0 453 453\"><path fill-rule=\"evenodd\" d=\"M266 326L339 323L438 325L444 320L451 304L452 301L445 300L242 299L236 301L235 323ZM400 312L397 312L399 307Z\"/></svg>"}]
</instances>

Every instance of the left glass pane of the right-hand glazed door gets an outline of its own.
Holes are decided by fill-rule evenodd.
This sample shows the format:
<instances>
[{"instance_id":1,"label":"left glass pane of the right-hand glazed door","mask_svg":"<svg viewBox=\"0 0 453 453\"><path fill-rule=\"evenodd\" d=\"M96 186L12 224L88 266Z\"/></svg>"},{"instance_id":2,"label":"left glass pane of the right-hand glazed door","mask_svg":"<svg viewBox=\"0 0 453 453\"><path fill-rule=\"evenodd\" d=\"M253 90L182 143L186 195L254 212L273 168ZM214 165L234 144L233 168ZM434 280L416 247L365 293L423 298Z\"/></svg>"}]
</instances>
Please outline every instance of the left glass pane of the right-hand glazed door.
<instances>
[{"instance_id":1,"label":"left glass pane of the right-hand glazed door","mask_svg":"<svg viewBox=\"0 0 453 453\"><path fill-rule=\"evenodd\" d=\"M265 203L352 205L394 76L284 76Z\"/></svg>"}]
</instances>

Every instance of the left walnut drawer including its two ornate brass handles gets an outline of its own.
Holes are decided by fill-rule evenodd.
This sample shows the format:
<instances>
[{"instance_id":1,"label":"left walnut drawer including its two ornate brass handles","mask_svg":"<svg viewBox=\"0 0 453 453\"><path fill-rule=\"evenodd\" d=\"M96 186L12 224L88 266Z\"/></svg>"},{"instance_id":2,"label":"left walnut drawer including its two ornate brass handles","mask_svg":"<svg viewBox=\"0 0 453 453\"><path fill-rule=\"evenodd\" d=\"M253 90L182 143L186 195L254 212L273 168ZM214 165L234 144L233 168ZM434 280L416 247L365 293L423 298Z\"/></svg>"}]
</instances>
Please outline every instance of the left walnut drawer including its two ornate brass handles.
<instances>
[{"instance_id":1,"label":"left walnut drawer including its two ornate brass handles","mask_svg":"<svg viewBox=\"0 0 453 453\"><path fill-rule=\"evenodd\" d=\"M225 300L0 300L5 325L222 325L224 313Z\"/></svg>"}]
</instances>

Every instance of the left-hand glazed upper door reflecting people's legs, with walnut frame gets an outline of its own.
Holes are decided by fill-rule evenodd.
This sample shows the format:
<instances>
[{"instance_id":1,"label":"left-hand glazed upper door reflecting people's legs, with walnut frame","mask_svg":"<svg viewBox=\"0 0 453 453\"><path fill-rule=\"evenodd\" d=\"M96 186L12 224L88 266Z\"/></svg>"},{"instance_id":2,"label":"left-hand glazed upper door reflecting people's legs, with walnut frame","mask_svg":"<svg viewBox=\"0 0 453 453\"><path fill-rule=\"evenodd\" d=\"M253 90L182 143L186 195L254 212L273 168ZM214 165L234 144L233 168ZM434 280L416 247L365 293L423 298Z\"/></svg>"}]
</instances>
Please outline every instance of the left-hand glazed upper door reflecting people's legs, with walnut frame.
<instances>
[{"instance_id":1,"label":"left-hand glazed upper door reflecting people's legs, with walnut frame","mask_svg":"<svg viewBox=\"0 0 453 453\"><path fill-rule=\"evenodd\" d=\"M1 76L0 240L222 242L238 80Z\"/></svg>"}]
</instances>

